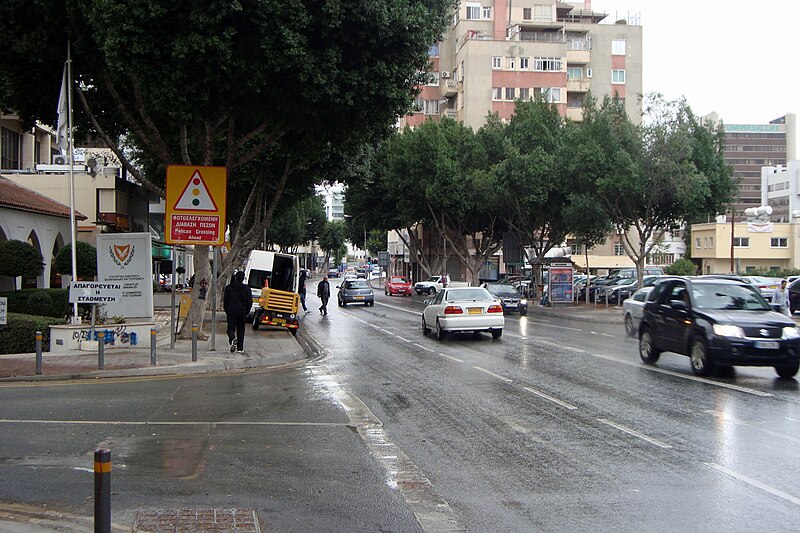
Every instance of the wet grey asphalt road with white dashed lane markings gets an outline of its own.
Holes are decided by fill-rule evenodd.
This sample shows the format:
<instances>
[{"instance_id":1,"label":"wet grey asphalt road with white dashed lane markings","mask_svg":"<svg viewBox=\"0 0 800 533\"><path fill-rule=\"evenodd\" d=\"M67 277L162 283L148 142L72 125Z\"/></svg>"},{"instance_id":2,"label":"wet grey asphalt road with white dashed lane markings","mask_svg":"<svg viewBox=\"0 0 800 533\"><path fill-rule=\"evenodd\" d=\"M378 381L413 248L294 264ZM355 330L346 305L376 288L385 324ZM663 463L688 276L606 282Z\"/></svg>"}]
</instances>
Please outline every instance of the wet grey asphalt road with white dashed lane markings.
<instances>
[{"instance_id":1,"label":"wet grey asphalt road with white dashed lane markings","mask_svg":"<svg viewBox=\"0 0 800 533\"><path fill-rule=\"evenodd\" d=\"M108 446L122 524L237 507L273 531L798 530L797 381L648 367L621 324L512 316L501 339L437 341L421 298L376 300L307 315L325 356L297 369L0 387L0 501L91 514Z\"/></svg>"}]
</instances>

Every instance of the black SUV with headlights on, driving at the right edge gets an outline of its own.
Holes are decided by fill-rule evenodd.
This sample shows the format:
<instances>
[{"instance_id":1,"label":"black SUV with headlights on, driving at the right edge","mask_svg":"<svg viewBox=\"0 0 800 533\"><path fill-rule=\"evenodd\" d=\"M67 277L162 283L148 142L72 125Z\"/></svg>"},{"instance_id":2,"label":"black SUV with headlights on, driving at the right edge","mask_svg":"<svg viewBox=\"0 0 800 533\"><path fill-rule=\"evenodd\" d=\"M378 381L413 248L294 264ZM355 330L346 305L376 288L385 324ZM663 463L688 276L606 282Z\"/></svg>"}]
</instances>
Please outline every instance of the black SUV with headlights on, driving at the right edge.
<instances>
[{"instance_id":1,"label":"black SUV with headlights on, driving at the right edge","mask_svg":"<svg viewBox=\"0 0 800 533\"><path fill-rule=\"evenodd\" d=\"M772 366L790 378L800 366L800 331L772 310L752 285L708 278L662 278L647 296L639 325L639 356L661 352L691 358L707 376L719 366Z\"/></svg>"}]
</instances>

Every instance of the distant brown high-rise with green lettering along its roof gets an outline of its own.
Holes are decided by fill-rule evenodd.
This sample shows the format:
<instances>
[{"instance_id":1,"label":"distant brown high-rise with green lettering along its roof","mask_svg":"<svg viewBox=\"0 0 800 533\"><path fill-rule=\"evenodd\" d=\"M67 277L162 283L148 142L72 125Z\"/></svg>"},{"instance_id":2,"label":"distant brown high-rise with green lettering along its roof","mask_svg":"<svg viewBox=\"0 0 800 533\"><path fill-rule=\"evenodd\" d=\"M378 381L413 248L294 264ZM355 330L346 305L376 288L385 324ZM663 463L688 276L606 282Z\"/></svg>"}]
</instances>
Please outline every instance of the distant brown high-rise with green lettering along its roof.
<instances>
[{"instance_id":1,"label":"distant brown high-rise with green lettering along its roof","mask_svg":"<svg viewBox=\"0 0 800 533\"><path fill-rule=\"evenodd\" d=\"M739 196L732 208L735 220L744 220L745 209L762 203L761 167L786 167L788 161L797 159L797 116L787 114L768 124L726 124L718 113L703 118L723 121L725 161L733 166L733 177L739 180ZM777 217L788 215L785 206L776 204L773 209Z\"/></svg>"}]
</instances>

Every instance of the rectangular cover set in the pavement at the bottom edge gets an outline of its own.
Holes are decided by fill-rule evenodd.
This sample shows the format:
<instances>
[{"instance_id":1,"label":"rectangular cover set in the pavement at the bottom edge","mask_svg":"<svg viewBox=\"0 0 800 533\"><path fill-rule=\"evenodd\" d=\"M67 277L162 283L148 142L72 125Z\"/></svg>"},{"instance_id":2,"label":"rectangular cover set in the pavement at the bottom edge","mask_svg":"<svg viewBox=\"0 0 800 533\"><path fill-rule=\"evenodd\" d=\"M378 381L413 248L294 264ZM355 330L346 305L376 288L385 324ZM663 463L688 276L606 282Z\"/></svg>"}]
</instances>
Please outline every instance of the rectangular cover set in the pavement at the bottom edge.
<instances>
[{"instance_id":1,"label":"rectangular cover set in the pavement at the bottom edge","mask_svg":"<svg viewBox=\"0 0 800 533\"><path fill-rule=\"evenodd\" d=\"M261 533L253 509L154 509L136 512L134 532Z\"/></svg>"}]
</instances>

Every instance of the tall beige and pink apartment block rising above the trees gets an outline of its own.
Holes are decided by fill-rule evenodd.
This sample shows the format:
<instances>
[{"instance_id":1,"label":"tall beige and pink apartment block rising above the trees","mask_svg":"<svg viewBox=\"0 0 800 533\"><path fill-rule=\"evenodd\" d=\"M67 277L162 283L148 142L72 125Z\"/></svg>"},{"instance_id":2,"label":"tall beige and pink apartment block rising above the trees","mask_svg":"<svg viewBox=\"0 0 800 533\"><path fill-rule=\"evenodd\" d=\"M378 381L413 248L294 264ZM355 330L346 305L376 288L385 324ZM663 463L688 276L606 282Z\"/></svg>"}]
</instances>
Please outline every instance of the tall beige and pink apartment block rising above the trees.
<instances>
[{"instance_id":1,"label":"tall beige and pink apartment block rising above the trees","mask_svg":"<svg viewBox=\"0 0 800 533\"><path fill-rule=\"evenodd\" d=\"M477 129L489 113L509 119L516 99L539 95L580 120L589 90L623 99L638 123L642 28L608 18L591 0L462 0L431 48L431 80L401 125L447 116Z\"/></svg>"}]
</instances>

